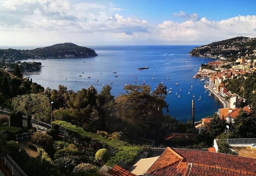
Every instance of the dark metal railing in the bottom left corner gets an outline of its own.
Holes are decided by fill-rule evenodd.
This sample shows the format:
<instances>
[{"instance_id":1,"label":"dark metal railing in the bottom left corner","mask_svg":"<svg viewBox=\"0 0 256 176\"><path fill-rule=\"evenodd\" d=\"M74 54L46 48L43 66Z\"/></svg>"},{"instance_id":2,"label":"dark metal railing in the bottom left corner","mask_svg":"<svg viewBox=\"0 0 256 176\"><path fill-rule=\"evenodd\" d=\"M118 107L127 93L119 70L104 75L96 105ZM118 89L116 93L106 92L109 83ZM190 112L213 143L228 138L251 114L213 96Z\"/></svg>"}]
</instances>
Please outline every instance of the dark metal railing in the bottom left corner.
<instances>
[{"instance_id":1,"label":"dark metal railing in the bottom left corner","mask_svg":"<svg viewBox=\"0 0 256 176\"><path fill-rule=\"evenodd\" d=\"M1 162L4 163L13 176L27 176L2 147L0 147L0 153Z\"/></svg>"}]
</instances>

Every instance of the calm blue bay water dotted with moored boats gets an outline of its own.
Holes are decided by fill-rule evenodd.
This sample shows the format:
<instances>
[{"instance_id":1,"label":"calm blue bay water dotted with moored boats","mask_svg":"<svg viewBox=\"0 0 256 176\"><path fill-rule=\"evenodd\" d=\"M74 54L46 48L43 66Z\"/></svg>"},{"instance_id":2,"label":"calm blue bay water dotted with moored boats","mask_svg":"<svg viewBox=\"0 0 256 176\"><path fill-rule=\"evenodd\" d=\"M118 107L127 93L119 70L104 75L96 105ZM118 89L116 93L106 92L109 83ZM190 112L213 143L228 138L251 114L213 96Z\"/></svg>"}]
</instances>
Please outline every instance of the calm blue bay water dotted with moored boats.
<instances>
[{"instance_id":1,"label":"calm blue bay water dotted with moored boats","mask_svg":"<svg viewBox=\"0 0 256 176\"><path fill-rule=\"evenodd\" d=\"M110 85L112 81L111 93L115 97L124 93L125 84L142 85L143 79L145 79L146 85L150 84L153 91L155 86L163 79L165 86L168 86L169 89L172 87L172 93L167 94L166 97L167 103L170 104L169 113L184 121L187 121L188 118L192 119L192 96L194 93L196 96L195 120L199 121L205 116L212 115L223 106L216 97L208 96L208 92L204 93L204 81L192 79L201 63L214 60L189 56L187 53L194 47L91 46L90 48L97 52L98 57L33 59L36 62L42 62L44 67L38 71L40 75L28 76L33 79L33 82L37 82L45 88L58 89L58 85L61 84L74 91L93 85L100 92L102 84ZM26 61L31 61L31 59ZM84 61L85 63L83 63ZM137 70L137 68L145 66L150 68ZM112 71L117 71L118 77L115 77ZM155 75L153 75L154 72ZM78 77L79 74L82 77ZM130 76L130 74L133 74L133 76ZM91 78L87 78L89 75ZM167 80L167 75L169 80ZM135 83L136 76L137 82ZM153 77L154 80L152 80ZM96 79L99 81L97 82ZM188 94L191 82L193 82L193 88ZM179 85L175 86L175 83L179 83ZM182 91L179 90L180 88ZM176 91L181 96L180 98L175 95ZM202 100L198 101L200 93Z\"/></svg>"}]
</instances>

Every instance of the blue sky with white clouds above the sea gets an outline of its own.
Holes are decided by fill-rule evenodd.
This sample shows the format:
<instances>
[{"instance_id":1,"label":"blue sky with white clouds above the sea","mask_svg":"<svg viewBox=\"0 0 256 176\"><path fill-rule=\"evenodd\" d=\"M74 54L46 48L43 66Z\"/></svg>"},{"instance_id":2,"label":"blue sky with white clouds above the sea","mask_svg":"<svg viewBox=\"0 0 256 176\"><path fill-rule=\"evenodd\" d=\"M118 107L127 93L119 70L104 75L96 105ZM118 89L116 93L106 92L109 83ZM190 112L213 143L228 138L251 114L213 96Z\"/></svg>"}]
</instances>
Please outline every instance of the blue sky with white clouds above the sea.
<instances>
[{"instance_id":1,"label":"blue sky with white clouds above the sea","mask_svg":"<svg viewBox=\"0 0 256 176\"><path fill-rule=\"evenodd\" d=\"M256 37L256 0L0 0L1 46L205 45Z\"/></svg>"}]
</instances>

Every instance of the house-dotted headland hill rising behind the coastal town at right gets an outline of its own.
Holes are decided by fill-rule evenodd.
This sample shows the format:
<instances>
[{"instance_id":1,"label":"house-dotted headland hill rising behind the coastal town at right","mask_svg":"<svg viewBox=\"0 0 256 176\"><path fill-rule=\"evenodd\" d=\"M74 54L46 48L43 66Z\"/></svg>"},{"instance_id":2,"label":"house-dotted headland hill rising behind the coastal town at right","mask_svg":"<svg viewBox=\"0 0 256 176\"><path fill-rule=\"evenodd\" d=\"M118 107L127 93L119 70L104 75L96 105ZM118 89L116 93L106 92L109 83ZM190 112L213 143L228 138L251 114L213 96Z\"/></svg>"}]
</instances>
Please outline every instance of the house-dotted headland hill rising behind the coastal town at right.
<instances>
[{"instance_id":1,"label":"house-dotted headland hill rising behind the coastal town at right","mask_svg":"<svg viewBox=\"0 0 256 176\"><path fill-rule=\"evenodd\" d=\"M235 37L227 40L217 41L208 45L194 48L189 52L191 56L215 56L220 55L246 55L256 49L256 38Z\"/></svg>"}]
</instances>

